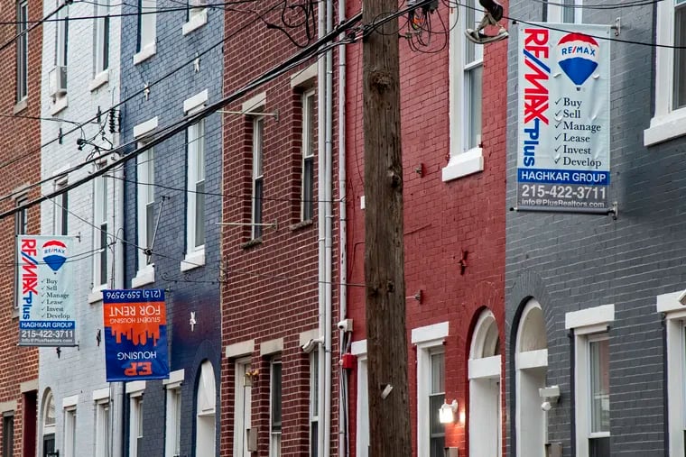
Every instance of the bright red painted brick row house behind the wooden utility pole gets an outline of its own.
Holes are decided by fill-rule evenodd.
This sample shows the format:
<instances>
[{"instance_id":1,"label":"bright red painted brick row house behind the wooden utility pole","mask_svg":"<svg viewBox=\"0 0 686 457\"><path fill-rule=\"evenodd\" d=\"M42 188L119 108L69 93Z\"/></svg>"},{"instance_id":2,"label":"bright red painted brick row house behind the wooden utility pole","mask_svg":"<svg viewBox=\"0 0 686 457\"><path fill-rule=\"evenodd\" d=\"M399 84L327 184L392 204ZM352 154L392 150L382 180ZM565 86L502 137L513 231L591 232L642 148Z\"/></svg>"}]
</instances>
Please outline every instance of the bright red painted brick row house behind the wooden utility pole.
<instances>
[{"instance_id":1,"label":"bright red painted brick row house behind the wooden utility pole","mask_svg":"<svg viewBox=\"0 0 686 457\"><path fill-rule=\"evenodd\" d=\"M349 2L348 16L359 8L360 2ZM400 33L409 32L401 38L400 57L404 247L413 454L419 457L442 456L442 449L434 453L442 447L475 457L505 448L499 412L505 359L499 354L505 341L507 41L469 44L463 31L474 23L468 15L481 19L477 2L450 9L440 3L422 36L405 27L404 17L400 21ZM430 43L425 46L419 38ZM364 283L361 52L360 46L348 47L350 283ZM480 117L480 125L470 114ZM362 288L348 290L357 355L357 368L349 375L350 450L366 456L368 423L360 411L366 407L365 295ZM444 428L433 422L443 398L458 403L455 422ZM490 416L478 413L486 409ZM484 434L487 438L477 440Z\"/></svg>"}]
</instances>

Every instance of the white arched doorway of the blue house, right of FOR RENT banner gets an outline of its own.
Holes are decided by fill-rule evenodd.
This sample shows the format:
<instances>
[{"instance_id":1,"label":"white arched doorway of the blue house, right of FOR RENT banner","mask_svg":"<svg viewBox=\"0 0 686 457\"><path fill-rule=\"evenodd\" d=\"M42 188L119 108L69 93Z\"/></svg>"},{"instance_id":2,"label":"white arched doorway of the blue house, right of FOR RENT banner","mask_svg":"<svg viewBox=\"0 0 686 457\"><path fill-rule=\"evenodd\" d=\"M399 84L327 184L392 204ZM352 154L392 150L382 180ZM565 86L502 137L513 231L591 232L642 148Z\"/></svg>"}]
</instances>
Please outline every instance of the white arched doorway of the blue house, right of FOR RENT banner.
<instances>
[{"instance_id":1,"label":"white arched doorway of the blue house, right of FOR RENT banner","mask_svg":"<svg viewBox=\"0 0 686 457\"><path fill-rule=\"evenodd\" d=\"M212 363L203 361L198 382L195 449L197 457L215 455L216 390Z\"/></svg>"}]
</instances>

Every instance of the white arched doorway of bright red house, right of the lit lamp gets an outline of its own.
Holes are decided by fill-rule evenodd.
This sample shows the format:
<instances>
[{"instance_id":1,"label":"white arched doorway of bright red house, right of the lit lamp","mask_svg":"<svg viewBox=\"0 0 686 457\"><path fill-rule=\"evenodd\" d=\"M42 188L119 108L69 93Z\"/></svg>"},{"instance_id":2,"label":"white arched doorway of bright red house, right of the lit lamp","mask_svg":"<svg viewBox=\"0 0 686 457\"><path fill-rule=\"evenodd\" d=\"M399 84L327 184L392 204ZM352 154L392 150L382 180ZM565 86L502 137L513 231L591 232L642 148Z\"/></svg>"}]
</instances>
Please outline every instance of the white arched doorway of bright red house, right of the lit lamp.
<instances>
[{"instance_id":1,"label":"white arched doorway of bright red house, right of the lit lamp","mask_svg":"<svg viewBox=\"0 0 686 457\"><path fill-rule=\"evenodd\" d=\"M500 334L493 313L486 309L477 320L468 361L469 455L502 455L500 413Z\"/></svg>"}]
</instances>

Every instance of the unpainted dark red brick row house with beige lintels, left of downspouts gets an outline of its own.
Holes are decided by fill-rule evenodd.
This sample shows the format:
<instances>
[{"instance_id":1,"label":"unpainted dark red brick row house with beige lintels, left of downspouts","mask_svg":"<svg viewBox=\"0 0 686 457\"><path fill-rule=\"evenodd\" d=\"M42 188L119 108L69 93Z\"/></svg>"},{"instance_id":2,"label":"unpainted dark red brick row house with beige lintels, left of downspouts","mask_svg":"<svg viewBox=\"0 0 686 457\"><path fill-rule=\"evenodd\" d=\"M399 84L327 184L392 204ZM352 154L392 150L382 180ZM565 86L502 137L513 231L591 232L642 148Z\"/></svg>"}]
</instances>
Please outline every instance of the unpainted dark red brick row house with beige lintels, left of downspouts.
<instances>
[{"instance_id":1,"label":"unpainted dark red brick row house with beige lintels, left of downspouts","mask_svg":"<svg viewBox=\"0 0 686 457\"><path fill-rule=\"evenodd\" d=\"M275 1L255 8L249 24L227 14L227 97L311 45L326 12L333 14L330 1L294 12ZM287 27L283 17L299 25ZM333 360L339 121L332 54L318 53L223 114L221 455L343 452Z\"/></svg>"}]
</instances>

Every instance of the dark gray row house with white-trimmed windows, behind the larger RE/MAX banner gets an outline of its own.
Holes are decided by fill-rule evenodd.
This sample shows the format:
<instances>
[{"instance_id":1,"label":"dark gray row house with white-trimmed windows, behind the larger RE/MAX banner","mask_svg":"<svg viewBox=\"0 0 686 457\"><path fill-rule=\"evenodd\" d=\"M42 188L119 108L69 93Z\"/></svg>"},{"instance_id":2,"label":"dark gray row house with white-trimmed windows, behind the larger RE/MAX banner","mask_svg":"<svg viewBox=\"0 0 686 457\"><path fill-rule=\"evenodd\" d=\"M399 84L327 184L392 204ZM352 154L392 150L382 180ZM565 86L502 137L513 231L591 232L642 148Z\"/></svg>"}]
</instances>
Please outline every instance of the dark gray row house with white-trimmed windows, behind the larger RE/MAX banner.
<instances>
[{"instance_id":1,"label":"dark gray row house with white-trimmed windows, behind the larger RE/MAX banner","mask_svg":"<svg viewBox=\"0 0 686 457\"><path fill-rule=\"evenodd\" d=\"M507 57L506 202L518 201L520 34L531 23L620 24L595 37L610 56L607 192L616 211L506 217L507 454L681 455L686 5L575 4L560 14L552 3L510 2L524 23L512 28Z\"/></svg>"}]
</instances>

